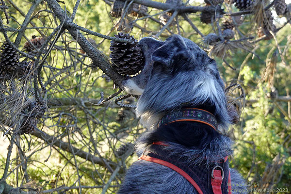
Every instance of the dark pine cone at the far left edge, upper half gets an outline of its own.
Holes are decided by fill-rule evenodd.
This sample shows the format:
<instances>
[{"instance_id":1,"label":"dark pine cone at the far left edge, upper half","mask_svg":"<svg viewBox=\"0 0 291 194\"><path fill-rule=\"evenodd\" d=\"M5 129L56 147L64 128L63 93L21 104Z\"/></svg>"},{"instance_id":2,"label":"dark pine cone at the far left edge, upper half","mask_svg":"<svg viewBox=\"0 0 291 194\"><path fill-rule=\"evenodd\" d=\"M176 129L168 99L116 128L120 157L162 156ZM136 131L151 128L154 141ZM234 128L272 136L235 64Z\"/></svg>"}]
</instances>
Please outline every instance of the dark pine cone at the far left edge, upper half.
<instances>
[{"instance_id":1,"label":"dark pine cone at the far left edge, upper half","mask_svg":"<svg viewBox=\"0 0 291 194\"><path fill-rule=\"evenodd\" d=\"M10 47L8 43L4 43L0 51L0 68L7 73L12 74L19 67L19 54Z\"/></svg>"}]
</instances>

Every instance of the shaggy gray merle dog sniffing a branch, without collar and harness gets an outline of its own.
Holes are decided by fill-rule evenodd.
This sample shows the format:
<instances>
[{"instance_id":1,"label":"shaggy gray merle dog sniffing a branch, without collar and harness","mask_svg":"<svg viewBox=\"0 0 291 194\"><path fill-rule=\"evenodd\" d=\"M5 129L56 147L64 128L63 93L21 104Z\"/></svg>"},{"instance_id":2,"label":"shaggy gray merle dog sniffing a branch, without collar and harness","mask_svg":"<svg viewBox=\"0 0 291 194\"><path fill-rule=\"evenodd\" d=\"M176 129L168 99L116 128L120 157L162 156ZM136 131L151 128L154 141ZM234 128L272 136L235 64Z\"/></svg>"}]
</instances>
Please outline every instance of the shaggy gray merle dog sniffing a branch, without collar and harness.
<instances>
[{"instance_id":1,"label":"shaggy gray merle dog sniffing a branch, without collar and harness","mask_svg":"<svg viewBox=\"0 0 291 194\"><path fill-rule=\"evenodd\" d=\"M140 157L153 142L163 141L164 149L185 157L189 165L213 163L232 154L232 141L224 134L230 123L226 108L224 82L217 65L194 42L173 35L164 42L146 37L139 42L145 56L141 74L128 78L125 90L140 95L136 115L149 129L136 142ZM204 109L212 113L218 131L192 121L158 123L164 115L183 107ZM230 169L232 194L248 193L244 180ZM198 194L194 186L176 171L158 163L139 160L125 176L118 194Z\"/></svg>"}]
</instances>

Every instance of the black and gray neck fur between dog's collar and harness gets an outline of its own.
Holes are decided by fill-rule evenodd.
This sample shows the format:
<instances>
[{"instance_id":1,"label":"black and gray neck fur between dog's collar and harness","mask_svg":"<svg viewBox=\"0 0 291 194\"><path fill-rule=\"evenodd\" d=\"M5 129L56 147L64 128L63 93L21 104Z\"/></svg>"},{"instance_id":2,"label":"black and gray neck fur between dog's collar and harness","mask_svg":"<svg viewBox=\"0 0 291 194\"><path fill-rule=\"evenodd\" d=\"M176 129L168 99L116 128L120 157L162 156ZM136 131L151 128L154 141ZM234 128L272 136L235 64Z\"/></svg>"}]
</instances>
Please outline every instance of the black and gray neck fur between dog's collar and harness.
<instances>
[{"instance_id":1,"label":"black and gray neck fur between dog's collar and harness","mask_svg":"<svg viewBox=\"0 0 291 194\"><path fill-rule=\"evenodd\" d=\"M219 160L232 154L232 141L207 124L195 121L173 122L144 133L136 143L140 156L153 142L167 142L173 154L189 157L190 161ZM197 156L200 156L197 158Z\"/></svg>"}]
</instances>

